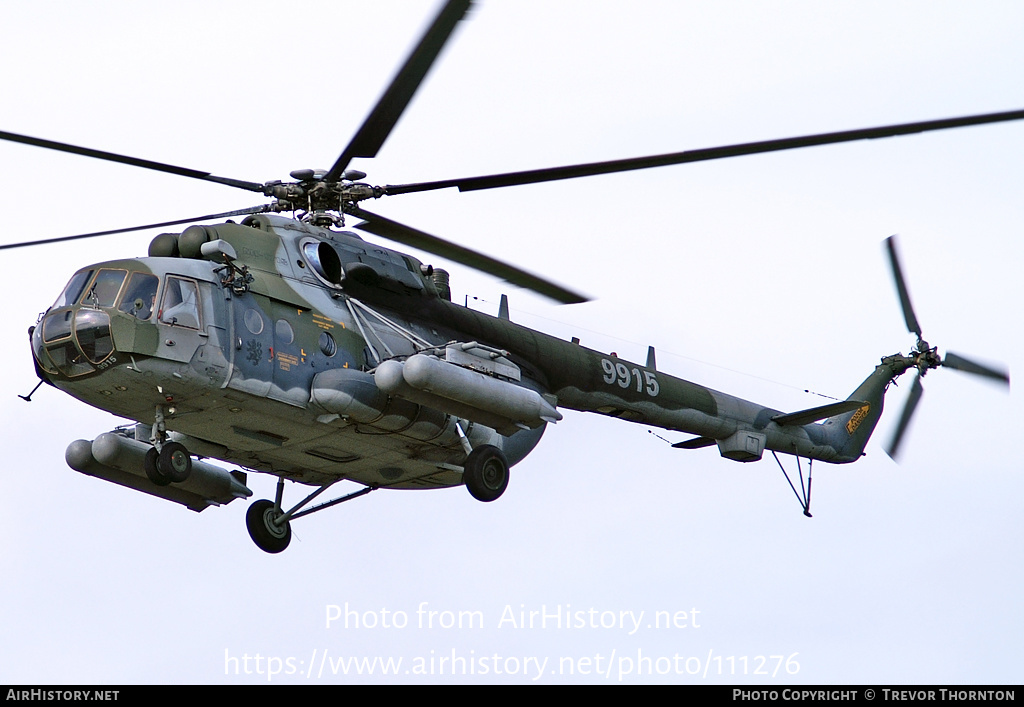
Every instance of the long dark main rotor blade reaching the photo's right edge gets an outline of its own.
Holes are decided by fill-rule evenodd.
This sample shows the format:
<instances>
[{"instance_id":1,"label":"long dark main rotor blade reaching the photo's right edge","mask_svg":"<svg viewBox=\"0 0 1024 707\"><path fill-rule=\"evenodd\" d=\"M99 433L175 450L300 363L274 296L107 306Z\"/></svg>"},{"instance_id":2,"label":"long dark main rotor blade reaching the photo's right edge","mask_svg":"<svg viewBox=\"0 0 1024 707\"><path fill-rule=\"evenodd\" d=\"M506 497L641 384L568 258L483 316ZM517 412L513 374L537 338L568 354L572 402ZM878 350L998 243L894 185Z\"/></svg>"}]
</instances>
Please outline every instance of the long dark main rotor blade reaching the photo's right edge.
<instances>
[{"instance_id":1,"label":"long dark main rotor blade reaching the photo's right edge","mask_svg":"<svg viewBox=\"0 0 1024 707\"><path fill-rule=\"evenodd\" d=\"M415 184L389 184L385 188L385 190L387 194L410 194L412 192L428 192L431 190L458 186L460 192L472 192L475 190L495 189L498 186L514 186L517 184L532 184L541 181L554 181L556 179L572 179L574 177L592 176L596 174L628 172L635 169L664 167L667 165L684 164L688 162L705 162L708 160L720 160L727 157L739 157L741 155L757 155L760 153L796 150L798 148L810 148L819 144L831 144L834 142L852 142L854 140L872 139L877 137L909 135L918 132L946 130L949 128L958 128L968 125L983 125L985 123L999 123L1022 119L1024 119L1024 111L989 113L985 115L965 116L963 118L945 118L942 120L929 120L920 123L902 123L899 125L885 125L876 128L826 132L818 135L805 135L802 137L786 137L783 139L764 140L761 142L744 142L741 144L730 144L721 148L707 148L703 150L691 150L688 152L671 153L668 155L653 155L651 157L610 160L607 162L592 162L566 167L531 169L524 172L507 172L505 174L490 174L487 176L443 179L440 181L424 181Z\"/></svg>"}]
</instances>

